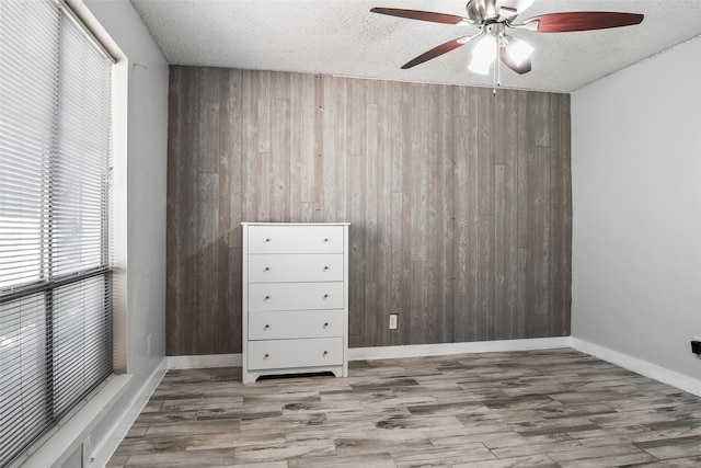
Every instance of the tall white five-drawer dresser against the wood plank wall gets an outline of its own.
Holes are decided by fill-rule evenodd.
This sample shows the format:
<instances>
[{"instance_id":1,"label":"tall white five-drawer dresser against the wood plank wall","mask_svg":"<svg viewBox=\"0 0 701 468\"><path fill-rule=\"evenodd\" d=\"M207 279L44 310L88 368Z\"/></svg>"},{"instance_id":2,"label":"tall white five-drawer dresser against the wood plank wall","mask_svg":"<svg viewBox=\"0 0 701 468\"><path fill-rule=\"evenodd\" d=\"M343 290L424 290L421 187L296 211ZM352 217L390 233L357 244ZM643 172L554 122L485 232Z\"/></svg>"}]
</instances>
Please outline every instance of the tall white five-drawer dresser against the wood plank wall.
<instances>
[{"instance_id":1,"label":"tall white five-drawer dresser against the wood plank wall","mask_svg":"<svg viewBox=\"0 0 701 468\"><path fill-rule=\"evenodd\" d=\"M348 375L348 224L243 222L243 383Z\"/></svg>"}]
</instances>

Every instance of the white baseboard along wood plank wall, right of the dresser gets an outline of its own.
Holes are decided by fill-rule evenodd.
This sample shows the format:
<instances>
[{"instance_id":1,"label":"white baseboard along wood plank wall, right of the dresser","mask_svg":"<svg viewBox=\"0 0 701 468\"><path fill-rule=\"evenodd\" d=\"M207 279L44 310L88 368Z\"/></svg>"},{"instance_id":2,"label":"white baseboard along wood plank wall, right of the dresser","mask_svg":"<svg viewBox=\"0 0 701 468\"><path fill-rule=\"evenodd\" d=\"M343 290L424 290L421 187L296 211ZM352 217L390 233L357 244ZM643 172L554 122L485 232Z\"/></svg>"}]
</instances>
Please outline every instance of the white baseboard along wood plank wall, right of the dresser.
<instances>
[{"instance_id":1,"label":"white baseboard along wood plank wall, right of the dresser","mask_svg":"<svg viewBox=\"0 0 701 468\"><path fill-rule=\"evenodd\" d=\"M528 340L495 340L470 343L409 344L402 346L350 347L348 361L390 357L440 356L445 354L494 353L504 351L551 350L570 347L570 336Z\"/></svg>"}]
</instances>

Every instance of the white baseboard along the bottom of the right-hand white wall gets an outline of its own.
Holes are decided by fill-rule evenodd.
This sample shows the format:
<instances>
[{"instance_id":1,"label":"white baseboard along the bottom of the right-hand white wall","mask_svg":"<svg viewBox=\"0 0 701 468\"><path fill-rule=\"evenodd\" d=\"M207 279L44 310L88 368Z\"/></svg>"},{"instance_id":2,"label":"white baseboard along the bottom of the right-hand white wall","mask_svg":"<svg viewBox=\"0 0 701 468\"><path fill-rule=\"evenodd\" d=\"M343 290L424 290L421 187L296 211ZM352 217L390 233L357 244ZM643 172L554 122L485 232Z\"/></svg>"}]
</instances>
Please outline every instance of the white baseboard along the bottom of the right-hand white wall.
<instances>
[{"instance_id":1,"label":"white baseboard along the bottom of the right-hand white wall","mask_svg":"<svg viewBox=\"0 0 701 468\"><path fill-rule=\"evenodd\" d=\"M699 379L688 377L656 364L629 356L628 354L623 354L578 338L571 336L570 343L571 346L577 351L701 397L701 380Z\"/></svg>"}]
</instances>

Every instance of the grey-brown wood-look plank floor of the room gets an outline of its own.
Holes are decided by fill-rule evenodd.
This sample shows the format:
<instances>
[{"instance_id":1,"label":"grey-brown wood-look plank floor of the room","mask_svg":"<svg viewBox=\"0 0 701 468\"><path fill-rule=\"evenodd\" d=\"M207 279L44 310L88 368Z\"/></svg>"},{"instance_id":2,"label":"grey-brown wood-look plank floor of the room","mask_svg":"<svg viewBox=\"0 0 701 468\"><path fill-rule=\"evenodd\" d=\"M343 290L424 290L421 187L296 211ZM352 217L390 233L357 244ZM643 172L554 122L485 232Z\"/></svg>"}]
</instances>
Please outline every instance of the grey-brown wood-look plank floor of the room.
<instances>
[{"instance_id":1,"label":"grey-brown wood-look plank floor of the room","mask_svg":"<svg viewBox=\"0 0 701 468\"><path fill-rule=\"evenodd\" d=\"M699 467L701 398L573 350L172 370L110 467Z\"/></svg>"}]
</instances>

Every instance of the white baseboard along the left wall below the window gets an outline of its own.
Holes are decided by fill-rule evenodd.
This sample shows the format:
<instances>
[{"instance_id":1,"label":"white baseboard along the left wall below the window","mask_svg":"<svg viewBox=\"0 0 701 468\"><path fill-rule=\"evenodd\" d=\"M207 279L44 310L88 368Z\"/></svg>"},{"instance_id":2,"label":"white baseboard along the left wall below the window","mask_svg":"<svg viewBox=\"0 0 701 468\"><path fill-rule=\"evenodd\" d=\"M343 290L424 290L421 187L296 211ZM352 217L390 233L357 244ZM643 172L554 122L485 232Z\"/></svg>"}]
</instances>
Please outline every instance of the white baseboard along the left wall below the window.
<instances>
[{"instance_id":1,"label":"white baseboard along the left wall below the window","mask_svg":"<svg viewBox=\"0 0 701 468\"><path fill-rule=\"evenodd\" d=\"M149 398L151 398L151 395L159 386L166 372L168 358L163 358L156 370L153 370L149 378L143 383L141 388L135 392L134 398L124 413L114 421L114 424L112 424L112 426L106 431L103 440L93 448L91 456L93 461L91 466L104 467L107 461L110 461L110 457L112 457L124 437L127 435L129 427L131 427L136 419L139 416L141 410L146 403L148 403Z\"/></svg>"}]
</instances>

